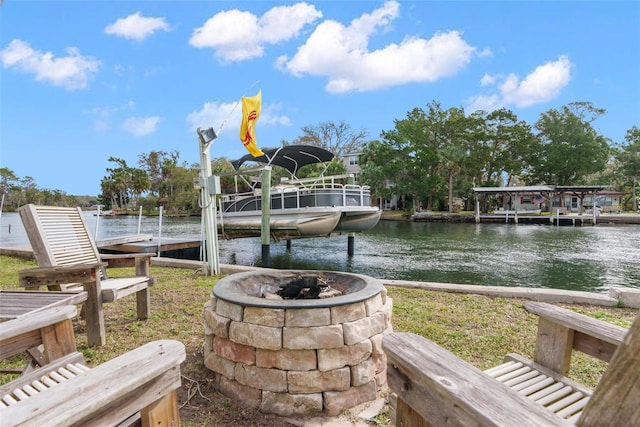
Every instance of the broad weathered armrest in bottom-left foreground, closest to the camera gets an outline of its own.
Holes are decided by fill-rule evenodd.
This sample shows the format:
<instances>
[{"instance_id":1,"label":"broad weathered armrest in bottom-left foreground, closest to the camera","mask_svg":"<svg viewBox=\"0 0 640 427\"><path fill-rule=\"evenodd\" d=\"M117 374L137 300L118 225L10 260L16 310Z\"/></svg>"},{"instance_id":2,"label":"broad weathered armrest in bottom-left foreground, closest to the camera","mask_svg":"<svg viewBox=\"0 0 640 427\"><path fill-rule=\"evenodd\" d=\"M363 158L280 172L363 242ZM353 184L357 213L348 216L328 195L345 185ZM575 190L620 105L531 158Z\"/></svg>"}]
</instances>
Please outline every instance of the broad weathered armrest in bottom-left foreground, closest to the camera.
<instances>
[{"instance_id":1,"label":"broad weathered armrest in bottom-left foreground, closest to the camera","mask_svg":"<svg viewBox=\"0 0 640 427\"><path fill-rule=\"evenodd\" d=\"M3 409L2 418L14 426L115 425L180 387L184 360L182 343L154 341Z\"/></svg>"}]
</instances>

